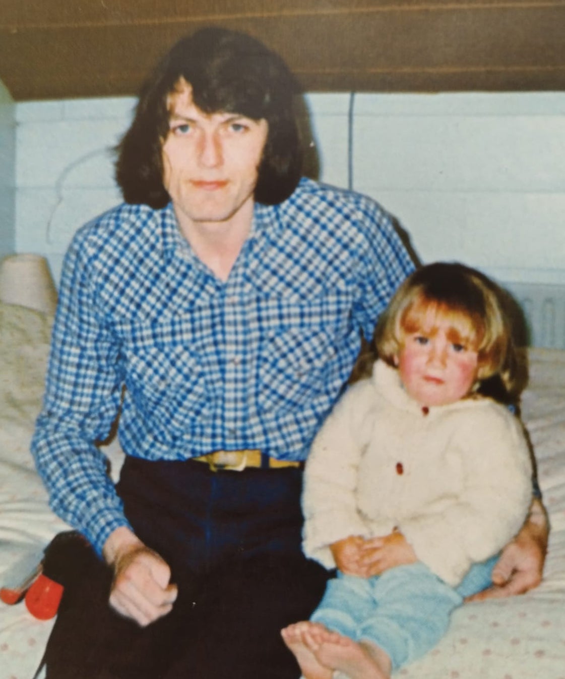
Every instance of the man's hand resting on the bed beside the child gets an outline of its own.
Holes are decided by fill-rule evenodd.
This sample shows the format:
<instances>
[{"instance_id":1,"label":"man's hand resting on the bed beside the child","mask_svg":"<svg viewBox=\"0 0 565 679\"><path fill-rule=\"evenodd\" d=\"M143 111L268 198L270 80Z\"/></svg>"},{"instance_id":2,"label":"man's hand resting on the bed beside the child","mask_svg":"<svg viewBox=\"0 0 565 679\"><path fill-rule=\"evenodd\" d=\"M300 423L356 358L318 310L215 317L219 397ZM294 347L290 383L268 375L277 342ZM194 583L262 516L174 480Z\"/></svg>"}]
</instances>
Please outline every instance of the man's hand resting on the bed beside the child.
<instances>
[{"instance_id":1,"label":"man's hand resting on the bed beside the child","mask_svg":"<svg viewBox=\"0 0 565 679\"><path fill-rule=\"evenodd\" d=\"M540 500L533 500L530 515L518 535L507 545L492 571L492 587L467 599L483 601L524 594L541 583L549 525Z\"/></svg>"}]
</instances>

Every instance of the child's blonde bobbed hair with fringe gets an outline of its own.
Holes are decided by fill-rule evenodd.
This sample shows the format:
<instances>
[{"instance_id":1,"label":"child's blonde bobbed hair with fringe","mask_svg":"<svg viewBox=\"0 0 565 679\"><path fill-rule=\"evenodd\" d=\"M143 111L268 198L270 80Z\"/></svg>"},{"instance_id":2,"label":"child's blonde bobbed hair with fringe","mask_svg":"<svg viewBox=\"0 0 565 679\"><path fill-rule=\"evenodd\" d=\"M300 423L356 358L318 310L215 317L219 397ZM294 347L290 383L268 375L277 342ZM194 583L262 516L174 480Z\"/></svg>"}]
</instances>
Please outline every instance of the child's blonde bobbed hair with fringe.
<instances>
[{"instance_id":1,"label":"child's blonde bobbed hair with fringe","mask_svg":"<svg viewBox=\"0 0 565 679\"><path fill-rule=\"evenodd\" d=\"M507 396L518 395L523 375L503 293L484 274L463 264L429 264L402 283L376 326L378 357L394 366L406 335L433 334L440 319L450 322L450 341L479 354L473 390L498 377Z\"/></svg>"}]
</instances>

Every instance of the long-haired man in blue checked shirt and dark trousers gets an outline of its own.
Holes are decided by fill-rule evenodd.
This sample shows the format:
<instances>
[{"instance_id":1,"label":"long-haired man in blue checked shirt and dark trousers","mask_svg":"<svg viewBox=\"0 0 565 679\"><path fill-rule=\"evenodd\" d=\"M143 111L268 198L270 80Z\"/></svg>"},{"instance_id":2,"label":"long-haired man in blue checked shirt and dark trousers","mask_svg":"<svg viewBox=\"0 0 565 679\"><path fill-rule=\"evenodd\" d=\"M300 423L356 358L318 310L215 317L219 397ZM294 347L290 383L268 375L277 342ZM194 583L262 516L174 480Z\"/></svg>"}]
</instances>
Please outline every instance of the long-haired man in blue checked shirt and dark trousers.
<instances>
[{"instance_id":1,"label":"long-haired man in blue checked shirt and dark trousers","mask_svg":"<svg viewBox=\"0 0 565 679\"><path fill-rule=\"evenodd\" d=\"M66 255L32 448L102 558L71 549L49 679L299 674L279 629L327 577L302 463L413 265L380 206L300 179L295 96L250 37L181 40L119 147L125 204ZM95 444L117 414L115 489ZM507 589L539 580L546 536L509 547Z\"/></svg>"}]
</instances>

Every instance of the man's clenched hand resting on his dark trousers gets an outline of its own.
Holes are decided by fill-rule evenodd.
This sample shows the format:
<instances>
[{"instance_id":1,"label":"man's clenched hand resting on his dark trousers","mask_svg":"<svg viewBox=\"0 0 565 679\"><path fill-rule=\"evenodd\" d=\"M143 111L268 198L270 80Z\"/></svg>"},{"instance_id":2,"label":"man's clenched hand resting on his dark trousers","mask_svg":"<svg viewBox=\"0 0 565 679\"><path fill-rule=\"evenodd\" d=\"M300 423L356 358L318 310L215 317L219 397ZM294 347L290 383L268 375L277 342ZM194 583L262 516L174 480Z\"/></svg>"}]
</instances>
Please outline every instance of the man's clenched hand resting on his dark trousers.
<instances>
[{"instance_id":1,"label":"man's clenched hand resting on his dark trousers","mask_svg":"<svg viewBox=\"0 0 565 679\"><path fill-rule=\"evenodd\" d=\"M114 569L110 605L119 614L146 627L170 612L178 593L170 568L129 528L111 533L102 553Z\"/></svg>"}]
</instances>

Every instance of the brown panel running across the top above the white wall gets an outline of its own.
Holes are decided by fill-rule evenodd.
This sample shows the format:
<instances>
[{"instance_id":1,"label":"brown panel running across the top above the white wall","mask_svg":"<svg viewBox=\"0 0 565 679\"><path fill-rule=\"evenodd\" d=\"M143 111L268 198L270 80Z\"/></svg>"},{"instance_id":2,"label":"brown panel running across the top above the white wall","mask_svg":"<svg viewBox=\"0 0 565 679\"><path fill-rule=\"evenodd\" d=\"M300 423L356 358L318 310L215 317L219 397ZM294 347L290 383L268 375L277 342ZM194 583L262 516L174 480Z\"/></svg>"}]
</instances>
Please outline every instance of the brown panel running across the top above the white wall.
<instances>
[{"instance_id":1,"label":"brown panel running across the top above the white wall","mask_svg":"<svg viewBox=\"0 0 565 679\"><path fill-rule=\"evenodd\" d=\"M306 90L564 90L564 0L3 0L0 80L18 100L121 96L218 24L277 50Z\"/></svg>"}]
</instances>

